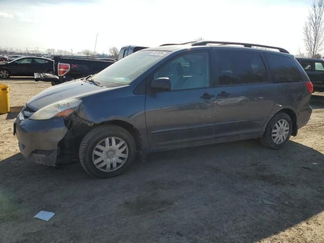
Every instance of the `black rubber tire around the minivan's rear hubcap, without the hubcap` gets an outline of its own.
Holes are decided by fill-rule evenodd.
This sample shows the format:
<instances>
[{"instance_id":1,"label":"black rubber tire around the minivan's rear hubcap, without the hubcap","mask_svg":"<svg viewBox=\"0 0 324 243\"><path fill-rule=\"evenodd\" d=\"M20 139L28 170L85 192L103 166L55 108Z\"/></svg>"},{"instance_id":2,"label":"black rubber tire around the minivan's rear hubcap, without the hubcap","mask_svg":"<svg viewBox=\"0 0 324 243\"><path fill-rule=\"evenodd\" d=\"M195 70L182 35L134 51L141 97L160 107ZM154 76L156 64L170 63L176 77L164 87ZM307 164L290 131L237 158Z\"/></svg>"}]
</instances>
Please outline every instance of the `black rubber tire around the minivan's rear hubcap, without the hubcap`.
<instances>
[{"instance_id":1,"label":"black rubber tire around the minivan's rear hubcap, without the hubcap","mask_svg":"<svg viewBox=\"0 0 324 243\"><path fill-rule=\"evenodd\" d=\"M281 119L285 119L288 122L289 133L288 133L287 138L283 142L278 144L273 141L272 130L273 130L275 124L277 123L277 121L279 121ZM263 146L268 147L268 148L279 149L288 142L290 136L292 135L292 128L293 128L293 122L292 122L292 119L290 118L290 116L287 113L279 112L279 113L275 114L269 121L269 123L264 131L263 136L259 139L260 143Z\"/></svg>"}]
</instances>

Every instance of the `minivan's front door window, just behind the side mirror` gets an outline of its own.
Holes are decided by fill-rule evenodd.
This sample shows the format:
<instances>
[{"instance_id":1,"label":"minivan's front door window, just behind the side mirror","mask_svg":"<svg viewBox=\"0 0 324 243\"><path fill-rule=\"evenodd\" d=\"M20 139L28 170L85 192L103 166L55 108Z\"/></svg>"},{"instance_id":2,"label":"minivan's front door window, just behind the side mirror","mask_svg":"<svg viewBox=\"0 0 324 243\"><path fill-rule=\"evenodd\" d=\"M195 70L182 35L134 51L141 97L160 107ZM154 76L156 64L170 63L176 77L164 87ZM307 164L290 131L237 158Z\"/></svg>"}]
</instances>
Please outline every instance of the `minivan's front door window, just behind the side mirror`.
<instances>
[{"instance_id":1,"label":"minivan's front door window, just behind the side mirror","mask_svg":"<svg viewBox=\"0 0 324 243\"><path fill-rule=\"evenodd\" d=\"M181 55L161 66L154 79L168 77L171 90L207 88L210 86L209 54L207 52Z\"/></svg>"}]
</instances>

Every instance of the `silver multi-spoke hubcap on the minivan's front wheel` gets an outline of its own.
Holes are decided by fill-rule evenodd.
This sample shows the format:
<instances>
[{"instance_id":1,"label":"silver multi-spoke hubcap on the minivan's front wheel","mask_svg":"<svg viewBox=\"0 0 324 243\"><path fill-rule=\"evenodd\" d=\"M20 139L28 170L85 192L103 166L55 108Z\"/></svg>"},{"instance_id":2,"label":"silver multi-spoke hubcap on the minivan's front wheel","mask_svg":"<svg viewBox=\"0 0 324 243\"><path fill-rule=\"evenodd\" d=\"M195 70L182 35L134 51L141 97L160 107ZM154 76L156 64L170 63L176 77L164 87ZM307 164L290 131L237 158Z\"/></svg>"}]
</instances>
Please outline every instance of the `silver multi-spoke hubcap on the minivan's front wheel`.
<instances>
[{"instance_id":1,"label":"silver multi-spoke hubcap on the minivan's front wheel","mask_svg":"<svg viewBox=\"0 0 324 243\"><path fill-rule=\"evenodd\" d=\"M104 172L111 172L122 167L128 158L128 146L123 139L108 137L101 140L92 152L95 167Z\"/></svg>"}]
</instances>

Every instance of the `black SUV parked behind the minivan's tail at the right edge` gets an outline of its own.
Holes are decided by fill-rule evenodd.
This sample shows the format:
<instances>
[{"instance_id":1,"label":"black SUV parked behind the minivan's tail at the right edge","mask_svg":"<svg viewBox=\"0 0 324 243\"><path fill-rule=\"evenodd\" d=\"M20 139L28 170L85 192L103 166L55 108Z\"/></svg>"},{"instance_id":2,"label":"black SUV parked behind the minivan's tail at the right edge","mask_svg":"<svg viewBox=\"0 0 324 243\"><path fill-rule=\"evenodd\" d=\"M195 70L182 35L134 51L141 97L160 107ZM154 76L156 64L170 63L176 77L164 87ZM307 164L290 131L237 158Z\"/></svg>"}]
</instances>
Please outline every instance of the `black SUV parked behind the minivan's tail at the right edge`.
<instances>
[{"instance_id":1,"label":"black SUV parked behind the minivan's tail at the right edge","mask_svg":"<svg viewBox=\"0 0 324 243\"><path fill-rule=\"evenodd\" d=\"M304 68L310 81L314 86L314 91L324 91L324 60L316 58L296 58Z\"/></svg>"}]
</instances>

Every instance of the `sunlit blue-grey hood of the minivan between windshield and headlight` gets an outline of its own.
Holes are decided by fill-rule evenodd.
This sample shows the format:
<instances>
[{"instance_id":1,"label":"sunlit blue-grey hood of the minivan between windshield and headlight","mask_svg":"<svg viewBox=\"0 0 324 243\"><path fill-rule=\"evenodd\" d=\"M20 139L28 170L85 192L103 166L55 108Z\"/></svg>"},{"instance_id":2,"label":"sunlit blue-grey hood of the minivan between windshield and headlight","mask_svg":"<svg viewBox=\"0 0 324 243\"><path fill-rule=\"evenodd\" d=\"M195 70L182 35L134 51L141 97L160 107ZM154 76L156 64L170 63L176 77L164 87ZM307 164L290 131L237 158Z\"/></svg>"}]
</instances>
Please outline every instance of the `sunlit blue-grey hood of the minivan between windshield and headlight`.
<instances>
[{"instance_id":1,"label":"sunlit blue-grey hood of the minivan between windshield and headlight","mask_svg":"<svg viewBox=\"0 0 324 243\"><path fill-rule=\"evenodd\" d=\"M107 88L105 87L92 85L77 79L70 82L66 82L61 85L53 86L51 88L42 91L38 95L28 100L26 105L30 109L37 111L57 101L70 99L70 98L78 98L81 96L85 96L87 94L91 94L106 89Z\"/></svg>"}]
</instances>

